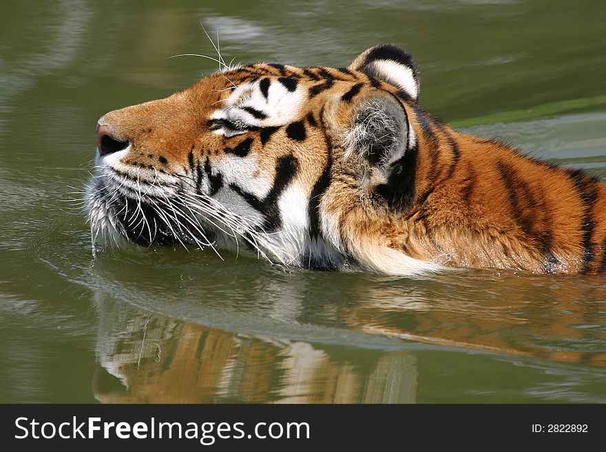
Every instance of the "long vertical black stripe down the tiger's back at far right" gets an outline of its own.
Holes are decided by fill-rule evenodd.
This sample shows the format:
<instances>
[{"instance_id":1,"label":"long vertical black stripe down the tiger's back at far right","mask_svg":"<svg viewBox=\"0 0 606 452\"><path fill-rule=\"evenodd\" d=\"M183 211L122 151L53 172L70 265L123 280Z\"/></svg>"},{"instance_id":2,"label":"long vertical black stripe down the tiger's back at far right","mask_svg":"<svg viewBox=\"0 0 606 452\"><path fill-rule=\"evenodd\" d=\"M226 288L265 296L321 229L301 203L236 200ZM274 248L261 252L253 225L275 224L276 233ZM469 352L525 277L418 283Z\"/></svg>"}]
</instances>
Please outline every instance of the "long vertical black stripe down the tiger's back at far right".
<instances>
[{"instance_id":1,"label":"long vertical black stripe down the tiger's back at far right","mask_svg":"<svg viewBox=\"0 0 606 452\"><path fill-rule=\"evenodd\" d=\"M580 169L570 170L569 173L584 208L583 218L581 219L581 232L583 233L581 241L583 257L581 262L583 263L583 272L586 273L590 270L590 264L596 257L596 244L593 240L596 222L594 222L593 208L598 197L598 182Z\"/></svg>"}]
</instances>

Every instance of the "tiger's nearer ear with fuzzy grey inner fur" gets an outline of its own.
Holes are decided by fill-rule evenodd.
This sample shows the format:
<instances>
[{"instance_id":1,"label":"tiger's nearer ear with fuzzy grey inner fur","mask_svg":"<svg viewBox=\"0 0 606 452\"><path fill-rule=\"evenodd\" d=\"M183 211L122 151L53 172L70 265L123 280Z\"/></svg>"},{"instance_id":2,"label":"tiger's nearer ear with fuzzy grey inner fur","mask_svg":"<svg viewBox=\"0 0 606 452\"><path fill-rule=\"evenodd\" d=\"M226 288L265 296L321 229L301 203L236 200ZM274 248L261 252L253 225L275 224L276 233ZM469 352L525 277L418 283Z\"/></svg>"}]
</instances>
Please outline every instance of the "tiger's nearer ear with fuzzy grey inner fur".
<instances>
[{"instance_id":1,"label":"tiger's nearer ear with fuzzy grey inner fur","mask_svg":"<svg viewBox=\"0 0 606 452\"><path fill-rule=\"evenodd\" d=\"M344 162L363 171L363 185L372 190L387 183L408 149L408 118L399 100L370 89L353 100L336 98L324 115L328 131L344 151Z\"/></svg>"}]
</instances>

